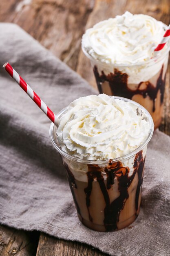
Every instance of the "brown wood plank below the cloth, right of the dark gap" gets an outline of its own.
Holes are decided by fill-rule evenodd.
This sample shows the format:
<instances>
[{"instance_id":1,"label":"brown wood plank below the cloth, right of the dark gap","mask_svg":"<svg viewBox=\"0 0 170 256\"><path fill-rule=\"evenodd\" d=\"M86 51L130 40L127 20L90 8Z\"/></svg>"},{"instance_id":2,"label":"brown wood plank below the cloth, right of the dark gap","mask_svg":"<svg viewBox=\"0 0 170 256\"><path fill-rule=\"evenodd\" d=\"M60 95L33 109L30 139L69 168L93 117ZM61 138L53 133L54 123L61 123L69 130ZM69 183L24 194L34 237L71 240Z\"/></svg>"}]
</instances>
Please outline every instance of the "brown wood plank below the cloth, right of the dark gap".
<instances>
[{"instance_id":1,"label":"brown wood plank below the cloth, right of the dark gap","mask_svg":"<svg viewBox=\"0 0 170 256\"><path fill-rule=\"evenodd\" d=\"M107 256L89 245L40 235L36 256Z\"/></svg>"}]
</instances>

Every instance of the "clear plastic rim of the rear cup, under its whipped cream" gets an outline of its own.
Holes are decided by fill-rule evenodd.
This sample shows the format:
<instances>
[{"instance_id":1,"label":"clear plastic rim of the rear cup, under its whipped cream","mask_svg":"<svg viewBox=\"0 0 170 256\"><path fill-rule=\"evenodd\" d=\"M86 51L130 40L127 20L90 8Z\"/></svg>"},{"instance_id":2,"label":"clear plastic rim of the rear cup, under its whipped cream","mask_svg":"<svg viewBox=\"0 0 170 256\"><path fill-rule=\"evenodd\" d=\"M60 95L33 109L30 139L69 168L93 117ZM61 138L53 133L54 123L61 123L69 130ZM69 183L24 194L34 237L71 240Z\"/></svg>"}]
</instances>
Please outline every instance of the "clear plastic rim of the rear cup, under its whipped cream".
<instances>
[{"instance_id":1,"label":"clear plastic rim of the rear cup, under its whipped cream","mask_svg":"<svg viewBox=\"0 0 170 256\"><path fill-rule=\"evenodd\" d=\"M168 26L167 26L168 28ZM92 62L95 62L96 64L98 65L103 65L103 66L106 66L108 67L111 66L111 67L138 67L138 66L144 66L144 65L148 65L150 64L151 65L154 65L155 63L158 63L159 61L162 61L163 58L169 54L169 51L170 51L170 40L166 43L168 45L168 47L166 48L166 50L161 54L161 55L155 55L153 58L150 58L148 61L140 61L140 62L137 62L137 63L106 63L104 61L100 61L100 60L97 60L95 58L93 58L87 51L86 49L84 48L84 46L82 45L82 51L83 53L86 55L86 57L88 57Z\"/></svg>"}]
</instances>

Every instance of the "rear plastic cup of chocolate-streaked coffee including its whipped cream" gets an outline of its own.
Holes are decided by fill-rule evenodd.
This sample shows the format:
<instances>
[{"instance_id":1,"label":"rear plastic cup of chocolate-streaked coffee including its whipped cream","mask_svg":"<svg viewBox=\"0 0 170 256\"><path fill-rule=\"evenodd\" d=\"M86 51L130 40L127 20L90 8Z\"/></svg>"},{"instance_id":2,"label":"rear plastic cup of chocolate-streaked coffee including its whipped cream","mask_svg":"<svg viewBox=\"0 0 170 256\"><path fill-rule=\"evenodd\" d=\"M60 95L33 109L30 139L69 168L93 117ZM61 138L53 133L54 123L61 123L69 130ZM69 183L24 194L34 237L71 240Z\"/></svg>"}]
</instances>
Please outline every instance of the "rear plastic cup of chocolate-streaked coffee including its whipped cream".
<instances>
[{"instance_id":1,"label":"rear plastic cup of chocolate-streaked coffee including its whipped cream","mask_svg":"<svg viewBox=\"0 0 170 256\"><path fill-rule=\"evenodd\" d=\"M167 26L154 18L128 11L97 23L82 37L100 93L132 99L161 124L170 43L154 56Z\"/></svg>"}]
</instances>

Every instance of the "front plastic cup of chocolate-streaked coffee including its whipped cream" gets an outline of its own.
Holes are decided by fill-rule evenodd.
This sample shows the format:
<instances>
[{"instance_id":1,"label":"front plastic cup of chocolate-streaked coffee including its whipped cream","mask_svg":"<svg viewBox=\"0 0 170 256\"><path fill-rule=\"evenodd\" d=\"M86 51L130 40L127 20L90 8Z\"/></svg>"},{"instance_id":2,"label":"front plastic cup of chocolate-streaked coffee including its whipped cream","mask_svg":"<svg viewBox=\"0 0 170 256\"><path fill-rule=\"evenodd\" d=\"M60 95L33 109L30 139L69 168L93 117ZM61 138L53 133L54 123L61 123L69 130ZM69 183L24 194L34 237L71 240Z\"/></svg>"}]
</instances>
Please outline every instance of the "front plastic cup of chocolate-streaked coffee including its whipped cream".
<instances>
[{"instance_id":1,"label":"front plastic cup of chocolate-streaked coffee including its whipped cream","mask_svg":"<svg viewBox=\"0 0 170 256\"><path fill-rule=\"evenodd\" d=\"M138 103L106 94L73 101L50 138L60 153L79 220L115 231L139 215L147 144L154 124Z\"/></svg>"}]
</instances>

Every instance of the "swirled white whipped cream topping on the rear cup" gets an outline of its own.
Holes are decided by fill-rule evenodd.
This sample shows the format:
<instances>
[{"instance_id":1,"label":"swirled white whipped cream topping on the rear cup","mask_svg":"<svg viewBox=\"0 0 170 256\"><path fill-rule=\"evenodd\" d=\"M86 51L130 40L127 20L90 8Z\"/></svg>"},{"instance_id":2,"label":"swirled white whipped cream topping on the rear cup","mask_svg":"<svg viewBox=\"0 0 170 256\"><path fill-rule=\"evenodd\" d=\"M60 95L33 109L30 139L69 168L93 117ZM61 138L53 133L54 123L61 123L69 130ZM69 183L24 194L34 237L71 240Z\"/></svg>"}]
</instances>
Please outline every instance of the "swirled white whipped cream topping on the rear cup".
<instances>
[{"instance_id":1,"label":"swirled white whipped cream topping on the rear cup","mask_svg":"<svg viewBox=\"0 0 170 256\"><path fill-rule=\"evenodd\" d=\"M94 59L105 63L146 62L153 56L166 29L163 22L151 16L126 11L87 29L82 37L82 48Z\"/></svg>"}]
</instances>

